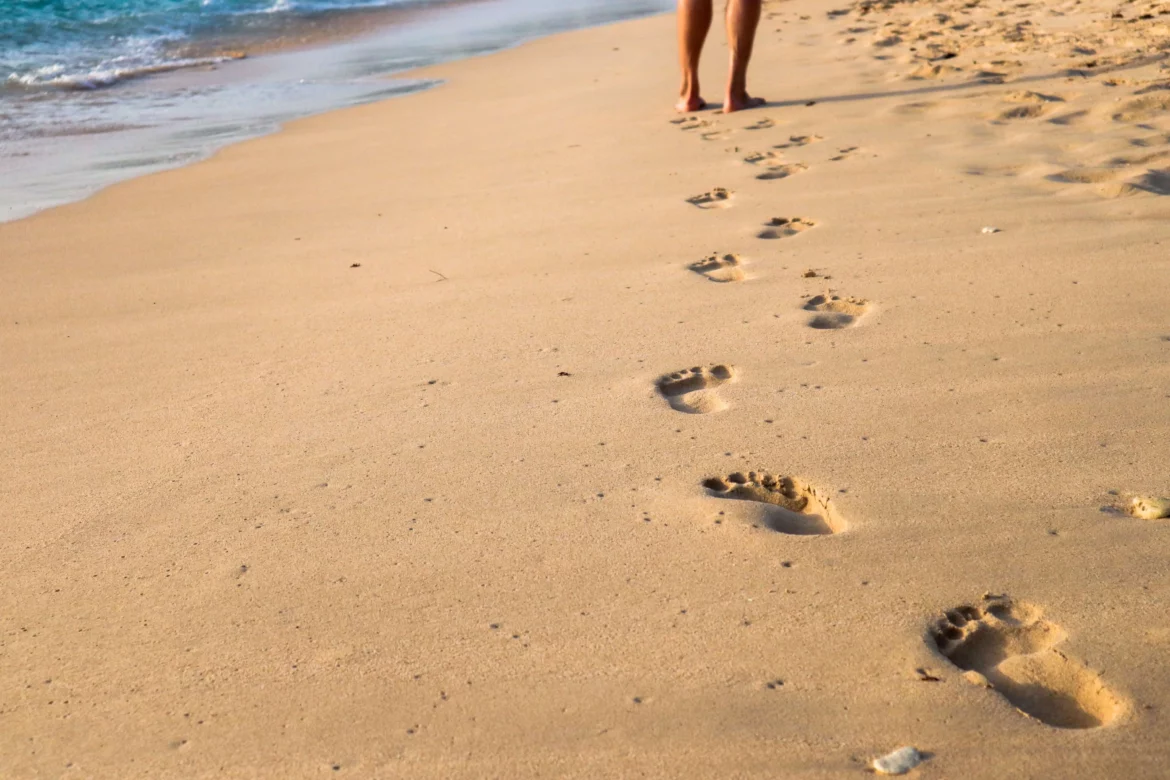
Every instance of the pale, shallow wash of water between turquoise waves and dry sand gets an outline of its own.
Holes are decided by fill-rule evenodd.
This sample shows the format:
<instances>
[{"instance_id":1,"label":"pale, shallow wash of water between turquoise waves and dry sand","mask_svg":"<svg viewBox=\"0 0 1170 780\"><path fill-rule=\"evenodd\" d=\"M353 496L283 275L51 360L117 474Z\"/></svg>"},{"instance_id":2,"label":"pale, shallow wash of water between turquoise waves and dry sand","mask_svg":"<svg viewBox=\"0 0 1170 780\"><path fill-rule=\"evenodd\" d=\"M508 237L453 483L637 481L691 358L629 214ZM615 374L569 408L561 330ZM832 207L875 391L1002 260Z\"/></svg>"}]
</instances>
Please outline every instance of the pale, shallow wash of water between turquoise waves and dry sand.
<instances>
[{"instance_id":1,"label":"pale, shallow wash of water between turquoise waves and dry sand","mask_svg":"<svg viewBox=\"0 0 1170 780\"><path fill-rule=\"evenodd\" d=\"M191 165L227 145L276 132L296 118L427 89L433 83L400 76L563 32L563 20L577 13L569 4L541 11L536 26L517 27L521 16L501 15L508 7L502 0L452 0L439 7L329 14L329 23L338 27L309 42L269 40L246 47L255 54L245 57L236 57L240 51L234 50L245 39L208 42L208 48L197 47L190 54L229 60L160 67L157 74L97 90L62 91L53 99L71 108L58 109L62 116L53 125L33 126L34 134L8 139L0 223L75 202L118 181ZM624 13L625 18L652 13L641 6L628 12L608 8L601 7L583 23L605 25ZM371 19L378 20L376 29L357 29ZM454 33L446 32L448 22ZM573 26L570 21L569 28ZM395 55L386 61L394 50L410 55L401 62ZM8 99L25 98L11 95ZM9 120L16 123L14 129L20 126L19 113ZM61 149L56 139L69 137L87 137L87 143Z\"/></svg>"}]
</instances>

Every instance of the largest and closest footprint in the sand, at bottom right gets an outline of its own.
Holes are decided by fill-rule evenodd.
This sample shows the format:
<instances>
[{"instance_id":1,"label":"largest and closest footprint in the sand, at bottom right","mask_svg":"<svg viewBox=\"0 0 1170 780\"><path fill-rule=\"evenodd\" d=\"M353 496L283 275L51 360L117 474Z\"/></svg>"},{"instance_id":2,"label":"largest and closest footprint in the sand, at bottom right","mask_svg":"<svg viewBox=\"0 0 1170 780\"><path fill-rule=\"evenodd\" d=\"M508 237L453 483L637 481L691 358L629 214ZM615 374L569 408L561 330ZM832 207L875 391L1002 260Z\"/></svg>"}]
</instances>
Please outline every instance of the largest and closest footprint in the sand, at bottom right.
<instances>
[{"instance_id":1,"label":"largest and closest footprint in the sand, at bottom right","mask_svg":"<svg viewBox=\"0 0 1170 780\"><path fill-rule=\"evenodd\" d=\"M1103 726L1124 709L1096 672L1055 649L1065 631L1031 605L986 595L978 607L948 610L930 637L969 681L1049 726Z\"/></svg>"}]
</instances>

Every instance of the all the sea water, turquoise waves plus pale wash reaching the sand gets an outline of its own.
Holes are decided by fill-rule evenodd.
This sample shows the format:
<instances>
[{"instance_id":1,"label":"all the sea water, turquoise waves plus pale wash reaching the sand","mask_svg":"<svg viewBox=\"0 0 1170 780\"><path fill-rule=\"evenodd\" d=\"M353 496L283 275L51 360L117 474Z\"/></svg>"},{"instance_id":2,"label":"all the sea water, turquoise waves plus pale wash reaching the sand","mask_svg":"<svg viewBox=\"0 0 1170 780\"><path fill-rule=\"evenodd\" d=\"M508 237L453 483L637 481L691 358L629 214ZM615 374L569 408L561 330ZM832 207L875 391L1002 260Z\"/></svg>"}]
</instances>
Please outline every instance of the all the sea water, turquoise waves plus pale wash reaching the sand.
<instances>
[{"instance_id":1,"label":"all the sea water, turquoise waves plus pale wash reaching the sand","mask_svg":"<svg viewBox=\"0 0 1170 780\"><path fill-rule=\"evenodd\" d=\"M411 68L673 5L0 0L0 221L432 85L391 77Z\"/></svg>"}]
</instances>

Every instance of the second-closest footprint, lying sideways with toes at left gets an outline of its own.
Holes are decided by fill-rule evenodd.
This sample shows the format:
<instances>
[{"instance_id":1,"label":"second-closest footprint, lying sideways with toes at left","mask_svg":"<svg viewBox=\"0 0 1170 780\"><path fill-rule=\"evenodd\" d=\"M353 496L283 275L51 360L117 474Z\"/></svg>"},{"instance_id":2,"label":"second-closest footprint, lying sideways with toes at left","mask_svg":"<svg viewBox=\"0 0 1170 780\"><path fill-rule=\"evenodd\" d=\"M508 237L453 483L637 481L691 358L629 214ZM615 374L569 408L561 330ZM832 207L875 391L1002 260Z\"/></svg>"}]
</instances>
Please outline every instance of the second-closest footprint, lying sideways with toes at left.
<instances>
[{"instance_id":1,"label":"second-closest footprint, lying sideways with toes at left","mask_svg":"<svg viewBox=\"0 0 1170 780\"><path fill-rule=\"evenodd\" d=\"M778 533L827 536L847 527L828 498L794 477L777 477L766 471L736 472L703 479L703 488L720 498L758 504L763 525Z\"/></svg>"}]
</instances>

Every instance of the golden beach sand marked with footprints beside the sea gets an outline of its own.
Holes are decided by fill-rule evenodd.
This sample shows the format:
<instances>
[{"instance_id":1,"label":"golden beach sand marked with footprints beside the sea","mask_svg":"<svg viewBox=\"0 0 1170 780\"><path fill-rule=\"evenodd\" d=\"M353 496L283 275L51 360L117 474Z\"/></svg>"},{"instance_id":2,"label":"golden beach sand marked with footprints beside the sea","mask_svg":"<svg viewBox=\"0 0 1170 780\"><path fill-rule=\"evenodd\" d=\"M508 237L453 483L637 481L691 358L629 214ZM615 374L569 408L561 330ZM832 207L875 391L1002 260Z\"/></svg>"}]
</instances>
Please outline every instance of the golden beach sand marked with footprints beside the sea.
<instances>
[{"instance_id":1,"label":"golden beach sand marked with footprints beside the sea","mask_svg":"<svg viewBox=\"0 0 1170 780\"><path fill-rule=\"evenodd\" d=\"M0 226L0 775L1164 776L1170 18L765 11Z\"/></svg>"}]
</instances>

